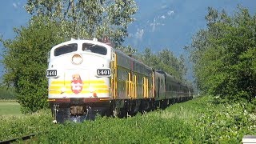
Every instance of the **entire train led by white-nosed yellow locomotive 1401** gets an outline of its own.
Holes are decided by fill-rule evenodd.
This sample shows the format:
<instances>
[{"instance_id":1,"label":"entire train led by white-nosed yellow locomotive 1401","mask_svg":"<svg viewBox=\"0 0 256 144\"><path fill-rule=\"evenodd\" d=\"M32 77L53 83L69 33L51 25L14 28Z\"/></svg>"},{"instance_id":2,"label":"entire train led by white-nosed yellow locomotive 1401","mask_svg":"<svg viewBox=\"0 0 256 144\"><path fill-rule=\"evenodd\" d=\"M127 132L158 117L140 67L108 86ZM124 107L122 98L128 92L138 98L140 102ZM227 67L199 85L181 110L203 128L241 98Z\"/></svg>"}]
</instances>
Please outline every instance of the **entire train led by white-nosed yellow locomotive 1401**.
<instances>
[{"instance_id":1,"label":"entire train led by white-nosed yellow locomotive 1401","mask_svg":"<svg viewBox=\"0 0 256 144\"><path fill-rule=\"evenodd\" d=\"M124 117L193 97L192 88L172 75L96 38L54 46L46 78L54 122L82 122L97 113Z\"/></svg>"}]
</instances>

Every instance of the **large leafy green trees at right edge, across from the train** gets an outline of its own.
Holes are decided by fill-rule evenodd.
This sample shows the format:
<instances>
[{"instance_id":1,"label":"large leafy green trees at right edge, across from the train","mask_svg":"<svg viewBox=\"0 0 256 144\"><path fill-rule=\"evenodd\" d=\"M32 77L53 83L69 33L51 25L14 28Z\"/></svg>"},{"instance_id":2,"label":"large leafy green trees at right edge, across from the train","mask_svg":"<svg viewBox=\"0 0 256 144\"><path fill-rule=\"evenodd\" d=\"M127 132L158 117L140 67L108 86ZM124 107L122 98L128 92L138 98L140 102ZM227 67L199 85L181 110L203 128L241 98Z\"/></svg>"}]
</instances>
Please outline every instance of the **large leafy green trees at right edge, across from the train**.
<instances>
[{"instance_id":1,"label":"large leafy green trees at right edge, across from the train","mask_svg":"<svg viewBox=\"0 0 256 144\"><path fill-rule=\"evenodd\" d=\"M241 6L234 15L209 8L206 22L186 47L198 88L229 102L255 102L256 15Z\"/></svg>"}]
</instances>

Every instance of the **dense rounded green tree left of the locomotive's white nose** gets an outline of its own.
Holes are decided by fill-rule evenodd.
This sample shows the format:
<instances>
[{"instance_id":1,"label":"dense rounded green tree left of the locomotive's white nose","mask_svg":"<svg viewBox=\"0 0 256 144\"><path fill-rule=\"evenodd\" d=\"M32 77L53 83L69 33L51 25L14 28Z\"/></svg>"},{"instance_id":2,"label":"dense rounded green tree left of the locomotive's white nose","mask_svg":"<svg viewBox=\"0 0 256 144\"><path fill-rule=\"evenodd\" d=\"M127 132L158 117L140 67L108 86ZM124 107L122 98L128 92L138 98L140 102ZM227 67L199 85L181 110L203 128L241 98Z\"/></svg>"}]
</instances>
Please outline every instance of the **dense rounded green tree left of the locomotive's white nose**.
<instances>
[{"instance_id":1,"label":"dense rounded green tree left of the locomotive's white nose","mask_svg":"<svg viewBox=\"0 0 256 144\"><path fill-rule=\"evenodd\" d=\"M13 85L22 112L34 112L48 106L47 52L63 39L58 36L58 25L43 24L38 18L28 27L15 29L14 40L2 40L6 47L3 63L6 66L4 82Z\"/></svg>"}]
</instances>

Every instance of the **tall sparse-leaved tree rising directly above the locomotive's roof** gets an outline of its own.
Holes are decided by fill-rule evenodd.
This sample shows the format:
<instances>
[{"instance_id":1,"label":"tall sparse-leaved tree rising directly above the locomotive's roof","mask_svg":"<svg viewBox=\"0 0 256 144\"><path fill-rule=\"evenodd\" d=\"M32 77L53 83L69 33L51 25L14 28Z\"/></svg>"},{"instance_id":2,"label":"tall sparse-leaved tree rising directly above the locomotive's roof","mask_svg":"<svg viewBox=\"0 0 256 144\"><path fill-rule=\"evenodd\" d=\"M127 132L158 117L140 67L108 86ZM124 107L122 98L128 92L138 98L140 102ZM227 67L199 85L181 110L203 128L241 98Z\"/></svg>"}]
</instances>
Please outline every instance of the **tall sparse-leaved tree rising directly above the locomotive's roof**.
<instances>
[{"instance_id":1,"label":"tall sparse-leaved tree rising directly above the locomotive's roof","mask_svg":"<svg viewBox=\"0 0 256 144\"><path fill-rule=\"evenodd\" d=\"M26 10L61 23L67 38L109 37L118 47L128 36L127 27L137 11L134 0L28 0Z\"/></svg>"}]
</instances>

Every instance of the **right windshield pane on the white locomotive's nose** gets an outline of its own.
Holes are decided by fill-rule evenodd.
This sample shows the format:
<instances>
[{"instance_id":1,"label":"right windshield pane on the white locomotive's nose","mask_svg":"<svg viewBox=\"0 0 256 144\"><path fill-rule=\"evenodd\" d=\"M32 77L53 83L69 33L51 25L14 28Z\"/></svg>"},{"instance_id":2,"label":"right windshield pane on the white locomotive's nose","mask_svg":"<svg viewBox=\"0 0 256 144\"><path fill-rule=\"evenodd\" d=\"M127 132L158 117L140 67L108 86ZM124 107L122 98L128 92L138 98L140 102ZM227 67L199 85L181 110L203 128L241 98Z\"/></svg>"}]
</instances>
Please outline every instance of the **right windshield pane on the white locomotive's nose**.
<instances>
[{"instance_id":1,"label":"right windshield pane on the white locomotive's nose","mask_svg":"<svg viewBox=\"0 0 256 144\"><path fill-rule=\"evenodd\" d=\"M96 54L102 54L102 55L106 55L106 53L107 53L106 47L98 46L98 45L90 44L90 43L83 43L82 50L89 51L89 52L96 53Z\"/></svg>"}]
</instances>

